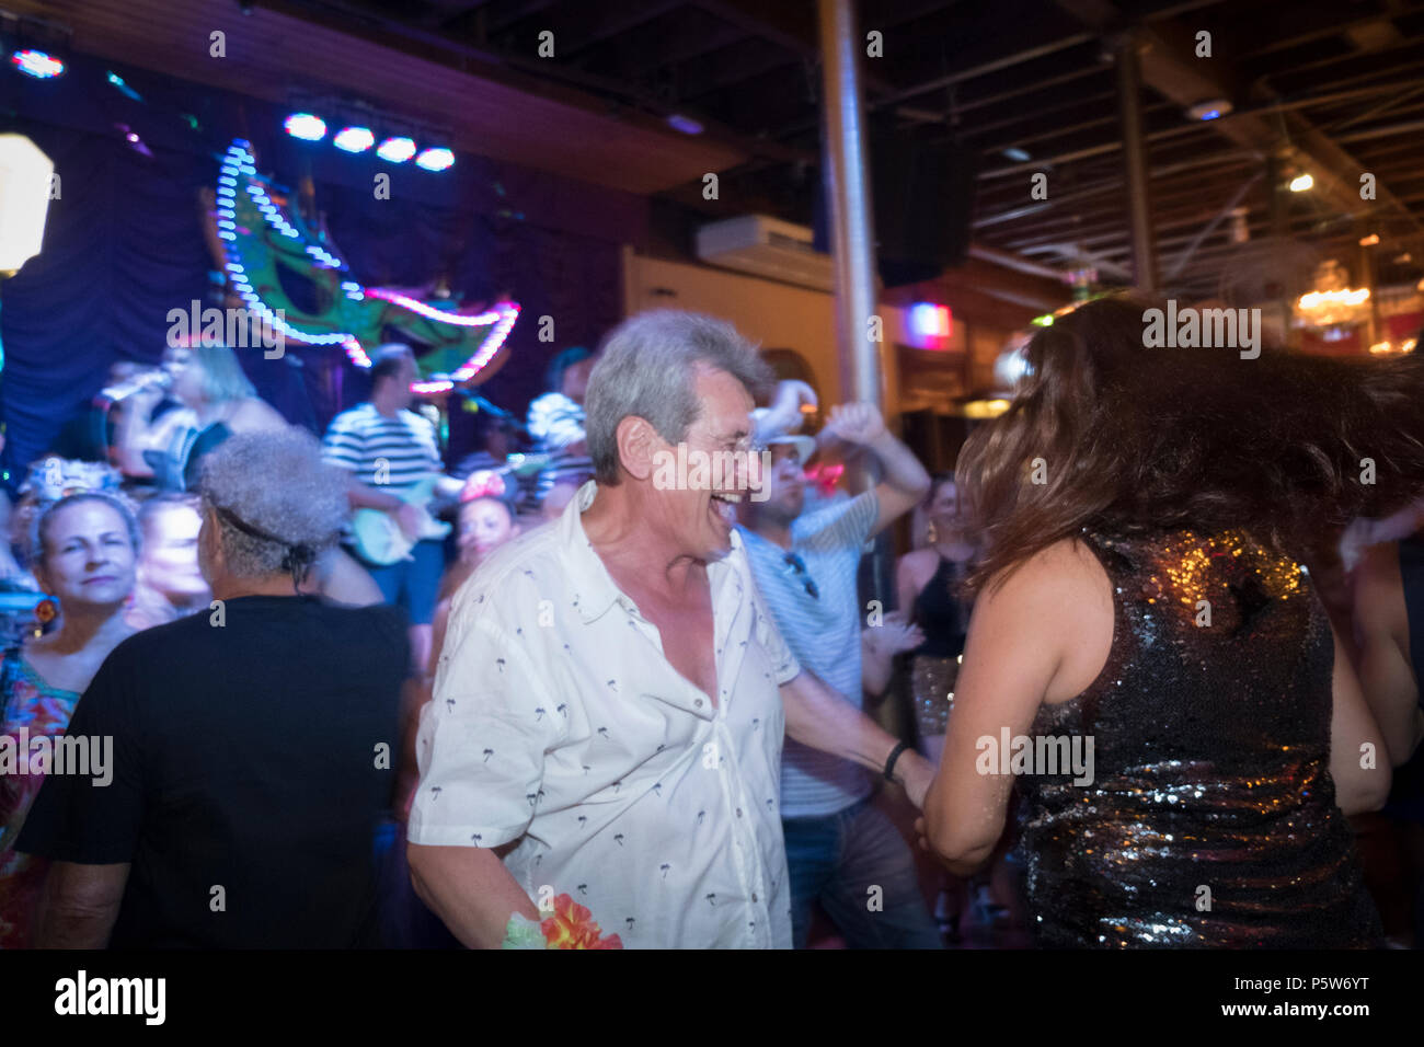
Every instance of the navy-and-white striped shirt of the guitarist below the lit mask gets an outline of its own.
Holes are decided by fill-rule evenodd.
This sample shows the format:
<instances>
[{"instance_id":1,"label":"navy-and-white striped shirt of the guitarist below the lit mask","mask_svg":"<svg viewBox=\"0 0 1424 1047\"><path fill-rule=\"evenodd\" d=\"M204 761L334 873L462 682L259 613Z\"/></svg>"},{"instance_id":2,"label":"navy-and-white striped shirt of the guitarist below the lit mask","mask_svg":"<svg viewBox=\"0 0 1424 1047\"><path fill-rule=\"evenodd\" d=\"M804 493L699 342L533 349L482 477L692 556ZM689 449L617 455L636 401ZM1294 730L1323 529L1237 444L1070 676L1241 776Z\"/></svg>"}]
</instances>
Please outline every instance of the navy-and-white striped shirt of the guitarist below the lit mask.
<instances>
[{"instance_id":1,"label":"navy-and-white striped shirt of the guitarist below the lit mask","mask_svg":"<svg viewBox=\"0 0 1424 1047\"><path fill-rule=\"evenodd\" d=\"M386 417L372 403L343 410L326 427L322 460L372 487L403 490L443 472L440 442L430 419L413 410Z\"/></svg>"}]
</instances>

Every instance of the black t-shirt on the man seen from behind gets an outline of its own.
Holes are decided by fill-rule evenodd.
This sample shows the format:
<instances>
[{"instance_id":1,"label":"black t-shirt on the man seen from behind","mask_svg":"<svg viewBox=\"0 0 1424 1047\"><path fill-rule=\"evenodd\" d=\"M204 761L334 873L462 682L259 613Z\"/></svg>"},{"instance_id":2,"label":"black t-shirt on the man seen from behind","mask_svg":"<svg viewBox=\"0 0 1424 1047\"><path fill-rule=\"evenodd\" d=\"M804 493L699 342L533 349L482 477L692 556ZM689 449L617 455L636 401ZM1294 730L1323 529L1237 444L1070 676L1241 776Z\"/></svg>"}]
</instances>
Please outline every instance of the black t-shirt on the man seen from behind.
<instances>
[{"instance_id":1,"label":"black t-shirt on the man seen from behind","mask_svg":"<svg viewBox=\"0 0 1424 1047\"><path fill-rule=\"evenodd\" d=\"M132 863L114 947L379 944L404 618L315 597L221 611L114 648L67 731L112 736L112 781L47 778L17 849Z\"/></svg>"}]
</instances>

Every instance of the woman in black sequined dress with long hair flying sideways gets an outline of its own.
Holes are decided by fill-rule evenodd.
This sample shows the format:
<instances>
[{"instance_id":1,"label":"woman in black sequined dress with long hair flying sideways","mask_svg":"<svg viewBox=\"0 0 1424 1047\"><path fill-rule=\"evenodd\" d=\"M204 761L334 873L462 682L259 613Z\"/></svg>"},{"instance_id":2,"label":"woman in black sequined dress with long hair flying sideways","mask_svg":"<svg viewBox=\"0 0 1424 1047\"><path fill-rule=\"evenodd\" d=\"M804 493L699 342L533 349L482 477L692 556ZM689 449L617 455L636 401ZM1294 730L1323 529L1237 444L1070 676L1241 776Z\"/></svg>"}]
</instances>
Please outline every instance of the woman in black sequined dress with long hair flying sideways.
<instances>
[{"instance_id":1,"label":"woman in black sequined dress with long hair flying sideways","mask_svg":"<svg viewBox=\"0 0 1424 1047\"><path fill-rule=\"evenodd\" d=\"M1040 944L1378 944L1346 816L1387 751L1300 556L1424 489L1424 358L1148 349L1148 308L1041 330L960 456L985 556L927 843L973 870L1017 782Z\"/></svg>"}]
</instances>

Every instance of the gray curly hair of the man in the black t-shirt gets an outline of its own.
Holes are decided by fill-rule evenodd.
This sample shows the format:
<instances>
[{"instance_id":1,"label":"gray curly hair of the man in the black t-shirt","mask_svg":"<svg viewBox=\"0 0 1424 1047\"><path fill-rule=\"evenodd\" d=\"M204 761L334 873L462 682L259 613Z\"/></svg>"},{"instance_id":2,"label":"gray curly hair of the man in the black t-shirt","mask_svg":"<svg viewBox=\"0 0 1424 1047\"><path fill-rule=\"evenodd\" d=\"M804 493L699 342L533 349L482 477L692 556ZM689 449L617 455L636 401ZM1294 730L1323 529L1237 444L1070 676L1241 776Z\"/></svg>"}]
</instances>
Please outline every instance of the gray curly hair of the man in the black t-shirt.
<instances>
[{"instance_id":1,"label":"gray curly hair of the man in the black t-shirt","mask_svg":"<svg viewBox=\"0 0 1424 1047\"><path fill-rule=\"evenodd\" d=\"M288 427L238 433L202 460L204 507L225 509L269 541L218 516L226 568L244 578L288 570L290 546L336 543L349 514L347 474L322 462L316 439Z\"/></svg>"}]
</instances>

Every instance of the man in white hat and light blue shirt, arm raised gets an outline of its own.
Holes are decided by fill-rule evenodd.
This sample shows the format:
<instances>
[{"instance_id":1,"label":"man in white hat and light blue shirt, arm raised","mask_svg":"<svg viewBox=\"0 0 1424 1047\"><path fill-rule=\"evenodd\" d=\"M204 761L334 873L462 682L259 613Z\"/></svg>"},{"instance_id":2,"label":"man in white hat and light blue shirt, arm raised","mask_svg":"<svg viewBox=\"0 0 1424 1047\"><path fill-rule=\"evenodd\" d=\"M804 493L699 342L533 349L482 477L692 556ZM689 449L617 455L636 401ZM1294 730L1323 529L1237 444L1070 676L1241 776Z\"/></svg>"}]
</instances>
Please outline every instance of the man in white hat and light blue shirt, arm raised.
<instances>
[{"instance_id":1,"label":"man in white hat and light blue shirt, arm raised","mask_svg":"<svg viewBox=\"0 0 1424 1047\"><path fill-rule=\"evenodd\" d=\"M772 454L766 500L743 503L748 527L739 530L752 577L792 654L860 709L860 556L870 537L924 497L930 477L869 403L832 410L822 436L870 450L884 481L802 511L812 440L760 433ZM873 805L871 788L870 775L849 759L786 739L782 829L796 949L806 947L816 902L852 949L941 944L910 849Z\"/></svg>"}]
</instances>

